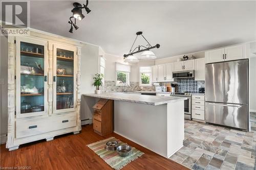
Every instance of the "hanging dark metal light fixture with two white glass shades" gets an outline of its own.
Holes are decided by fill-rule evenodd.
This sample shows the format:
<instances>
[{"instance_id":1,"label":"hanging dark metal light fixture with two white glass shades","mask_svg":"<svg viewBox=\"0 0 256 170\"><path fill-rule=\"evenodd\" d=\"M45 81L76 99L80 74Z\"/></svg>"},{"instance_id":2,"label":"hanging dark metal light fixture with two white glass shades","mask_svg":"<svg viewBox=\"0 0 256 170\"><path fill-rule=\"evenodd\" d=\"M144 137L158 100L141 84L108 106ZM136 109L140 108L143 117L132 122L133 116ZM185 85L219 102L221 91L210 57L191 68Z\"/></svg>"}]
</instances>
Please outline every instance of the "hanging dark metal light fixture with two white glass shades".
<instances>
[{"instance_id":1,"label":"hanging dark metal light fixture with two white glass shades","mask_svg":"<svg viewBox=\"0 0 256 170\"><path fill-rule=\"evenodd\" d=\"M126 62L139 62L139 59L140 59L140 60L153 60L153 59L156 59L156 55L155 55L152 51L150 51L150 50L153 49L153 48L159 48L160 45L159 45L159 44L156 44L155 46L152 46L152 45L146 40L146 38L142 35L142 32L141 32L141 31L137 32L136 35L137 35L137 36L136 36L136 38L135 38L135 40L134 40L134 42L133 42L133 45L132 45L132 47L131 47L131 50L130 50L129 54L124 54L124 55L123 55L124 61L126 61ZM144 38L144 40L147 42L147 44L146 44L145 46L139 45L139 46L137 46L136 48L134 48L134 50L132 51L133 46L134 46L134 43L135 43L135 41L137 40L137 38L138 38L139 35L141 35L141 36ZM143 53L141 54L141 56L139 57L139 59L138 59L136 56L133 56L134 54L136 54L136 53L141 53L141 52L143 52ZM133 56L133 57L131 57L131 56ZM137 59L137 60L136 60L136 59Z\"/></svg>"}]
</instances>

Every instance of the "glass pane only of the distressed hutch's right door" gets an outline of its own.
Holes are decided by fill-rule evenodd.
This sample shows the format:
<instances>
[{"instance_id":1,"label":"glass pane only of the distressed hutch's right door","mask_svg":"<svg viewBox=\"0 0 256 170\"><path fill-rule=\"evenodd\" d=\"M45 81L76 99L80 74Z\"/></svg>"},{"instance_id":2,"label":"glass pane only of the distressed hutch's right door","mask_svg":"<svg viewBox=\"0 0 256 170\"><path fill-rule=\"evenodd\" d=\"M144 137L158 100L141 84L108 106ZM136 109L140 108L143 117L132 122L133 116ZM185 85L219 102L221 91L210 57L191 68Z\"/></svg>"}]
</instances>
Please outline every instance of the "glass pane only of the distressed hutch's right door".
<instances>
[{"instance_id":1,"label":"glass pane only of the distressed hutch's right door","mask_svg":"<svg viewBox=\"0 0 256 170\"><path fill-rule=\"evenodd\" d=\"M74 52L57 48L56 109L74 108Z\"/></svg>"}]
</instances>

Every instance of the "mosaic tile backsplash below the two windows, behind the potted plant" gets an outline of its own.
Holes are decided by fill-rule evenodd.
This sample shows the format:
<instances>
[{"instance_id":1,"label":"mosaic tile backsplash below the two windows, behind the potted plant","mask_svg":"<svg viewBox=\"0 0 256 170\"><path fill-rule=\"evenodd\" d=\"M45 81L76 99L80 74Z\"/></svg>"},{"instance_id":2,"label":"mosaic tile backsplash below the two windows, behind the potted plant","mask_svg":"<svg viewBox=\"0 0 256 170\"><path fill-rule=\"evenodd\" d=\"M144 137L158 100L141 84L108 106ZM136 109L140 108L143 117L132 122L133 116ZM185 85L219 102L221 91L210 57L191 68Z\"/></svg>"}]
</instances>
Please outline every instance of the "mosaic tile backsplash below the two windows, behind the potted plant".
<instances>
[{"instance_id":1,"label":"mosaic tile backsplash below the two windows, behind the potted plant","mask_svg":"<svg viewBox=\"0 0 256 170\"><path fill-rule=\"evenodd\" d=\"M139 86L139 82L130 82L130 86L116 86L115 81L105 81L104 86L101 88L101 90L104 93L109 92L123 92L124 89L127 89L127 91L155 91L154 86L143 86L143 89Z\"/></svg>"}]
</instances>

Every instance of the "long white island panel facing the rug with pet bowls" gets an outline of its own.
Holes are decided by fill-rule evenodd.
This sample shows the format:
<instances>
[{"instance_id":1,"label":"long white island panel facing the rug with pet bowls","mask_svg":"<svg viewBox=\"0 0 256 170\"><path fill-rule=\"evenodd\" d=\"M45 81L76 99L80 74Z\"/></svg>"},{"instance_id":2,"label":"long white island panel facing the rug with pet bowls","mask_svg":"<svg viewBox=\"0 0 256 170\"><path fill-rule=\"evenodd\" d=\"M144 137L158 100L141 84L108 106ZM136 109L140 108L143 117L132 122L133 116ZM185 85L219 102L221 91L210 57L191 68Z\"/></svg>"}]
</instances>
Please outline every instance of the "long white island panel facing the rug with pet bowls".
<instances>
[{"instance_id":1,"label":"long white island panel facing the rug with pet bowls","mask_svg":"<svg viewBox=\"0 0 256 170\"><path fill-rule=\"evenodd\" d=\"M114 101L114 132L164 157L168 156L166 120L167 104Z\"/></svg>"}]
</instances>

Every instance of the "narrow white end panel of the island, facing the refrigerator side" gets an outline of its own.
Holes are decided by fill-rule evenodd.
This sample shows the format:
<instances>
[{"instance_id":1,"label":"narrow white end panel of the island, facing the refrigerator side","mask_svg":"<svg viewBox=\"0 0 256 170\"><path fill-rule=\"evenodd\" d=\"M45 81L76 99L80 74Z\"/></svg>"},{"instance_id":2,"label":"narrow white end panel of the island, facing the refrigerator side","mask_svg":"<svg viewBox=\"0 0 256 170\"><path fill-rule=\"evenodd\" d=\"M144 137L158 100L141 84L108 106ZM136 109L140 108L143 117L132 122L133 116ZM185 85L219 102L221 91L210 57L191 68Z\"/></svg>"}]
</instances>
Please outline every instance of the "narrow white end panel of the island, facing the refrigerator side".
<instances>
[{"instance_id":1,"label":"narrow white end panel of the island, facing the refrigerator side","mask_svg":"<svg viewBox=\"0 0 256 170\"><path fill-rule=\"evenodd\" d=\"M167 104L167 157L183 147L184 101Z\"/></svg>"}]
</instances>

